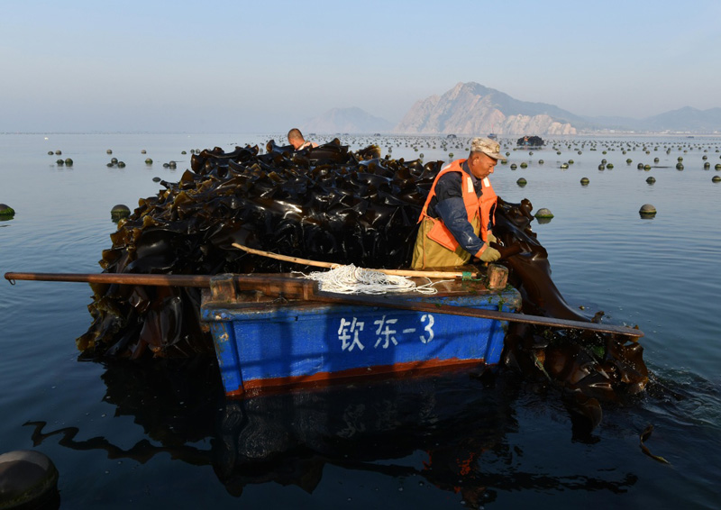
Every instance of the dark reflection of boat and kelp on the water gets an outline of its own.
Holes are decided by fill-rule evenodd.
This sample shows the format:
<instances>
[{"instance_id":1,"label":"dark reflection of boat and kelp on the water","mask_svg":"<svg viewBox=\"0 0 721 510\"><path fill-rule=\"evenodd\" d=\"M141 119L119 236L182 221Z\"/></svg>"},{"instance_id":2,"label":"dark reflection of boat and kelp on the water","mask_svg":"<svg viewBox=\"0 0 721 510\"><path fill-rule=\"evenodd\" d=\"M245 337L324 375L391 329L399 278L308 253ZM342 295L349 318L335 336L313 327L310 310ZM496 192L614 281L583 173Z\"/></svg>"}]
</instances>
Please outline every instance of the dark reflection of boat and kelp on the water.
<instances>
[{"instance_id":1,"label":"dark reflection of boat and kelp on the water","mask_svg":"<svg viewBox=\"0 0 721 510\"><path fill-rule=\"evenodd\" d=\"M45 422L29 422L35 446L55 437L72 450L104 450L109 459L141 463L169 453L173 460L212 465L233 496L268 482L313 493L326 465L420 477L471 508L493 501L498 491L617 493L636 482L633 474L603 479L484 466L484 452L507 460L523 454L506 438L518 432L516 398L523 389L506 374L479 378L463 371L246 400L225 400L214 360L114 362L102 379L115 415L131 415L145 437L123 449L108 437L78 441L77 427L45 431ZM196 446L208 438L209 450Z\"/></svg>"}]
</instances>

